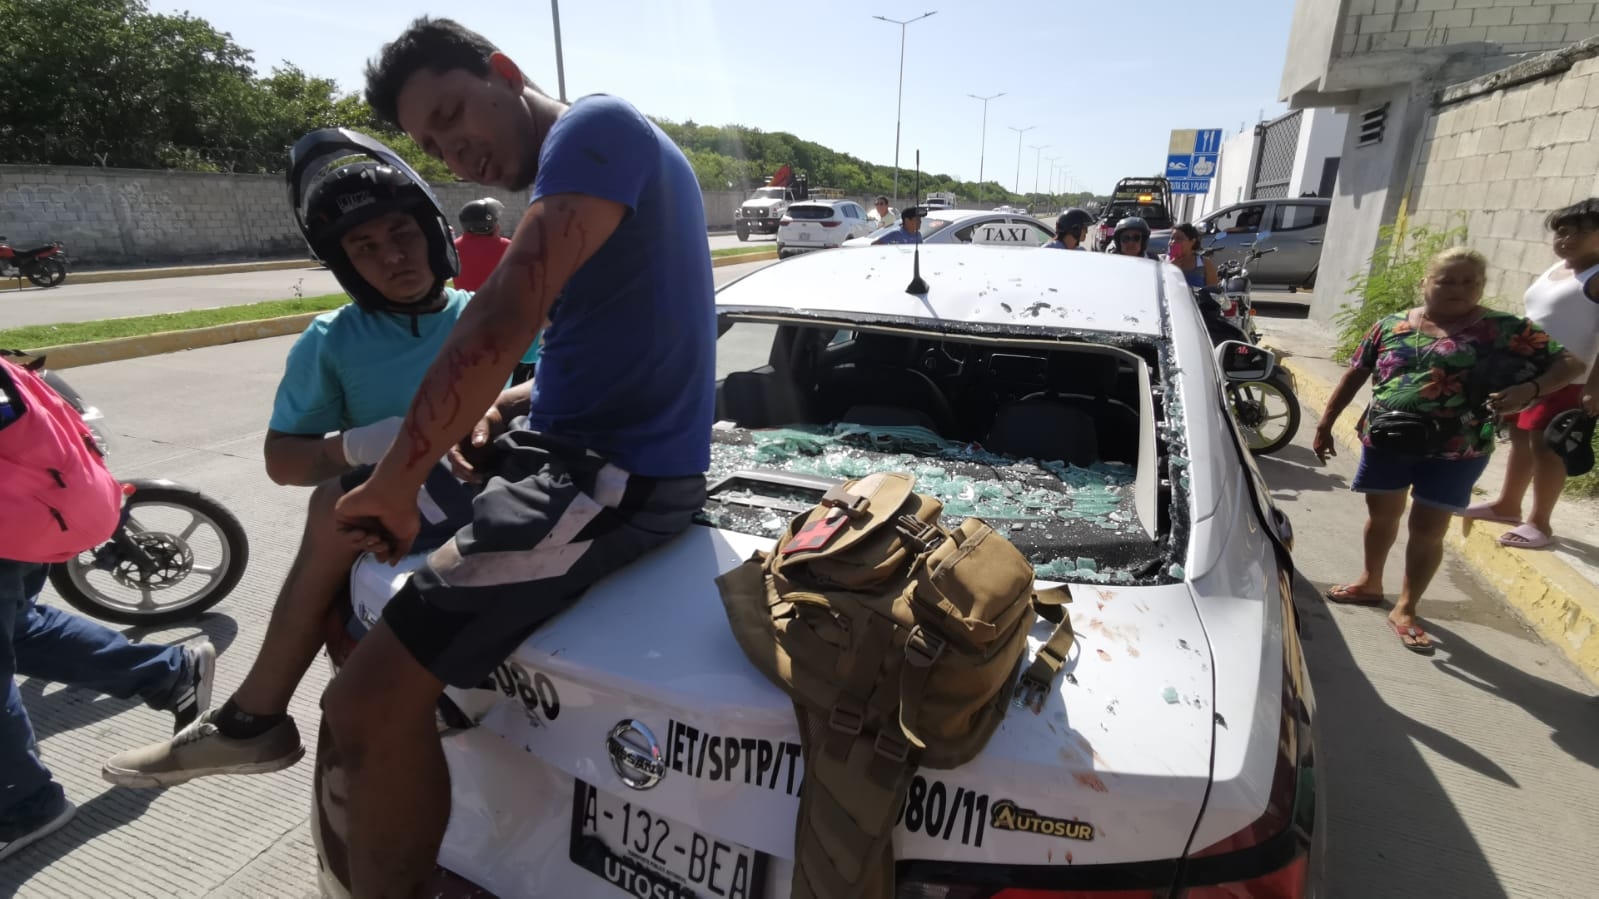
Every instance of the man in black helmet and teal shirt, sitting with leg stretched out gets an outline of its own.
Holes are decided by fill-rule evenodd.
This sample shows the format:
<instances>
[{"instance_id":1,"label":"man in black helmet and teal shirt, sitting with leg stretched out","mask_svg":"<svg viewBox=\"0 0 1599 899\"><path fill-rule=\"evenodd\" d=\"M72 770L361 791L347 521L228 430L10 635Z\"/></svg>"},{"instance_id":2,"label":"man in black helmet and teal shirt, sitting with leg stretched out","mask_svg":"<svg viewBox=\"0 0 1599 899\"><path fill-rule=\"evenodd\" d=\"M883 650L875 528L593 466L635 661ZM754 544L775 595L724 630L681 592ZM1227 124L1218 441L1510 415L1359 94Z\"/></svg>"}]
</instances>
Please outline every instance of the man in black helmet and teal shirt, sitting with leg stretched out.
<instances>
[{"instance_id":1,"label":"man in black helmet and teal shirt, sitting with leg stretched out","mask_svg":"<svg viewBox=\"0 0 1599 899\"><path fill-rule=\"evenodd\" d=\"M336 529L333 505L349 486L339 478L382 457L467 306L465 291L445 286L457 267L445 213L389 147L337 128L307 134L291 152L289 198L305 242L353 301L318 315L289 349L267 426L267 475L320 486L267 638L240 688L171 741L107 760L101 774L112 784L267 773L305 753L288 704L358 555ZM433 515L419 542L438 545L454 534L451 517L470 517L472 491L440 465L424 496Z\"/></svg>"}]
</instances>

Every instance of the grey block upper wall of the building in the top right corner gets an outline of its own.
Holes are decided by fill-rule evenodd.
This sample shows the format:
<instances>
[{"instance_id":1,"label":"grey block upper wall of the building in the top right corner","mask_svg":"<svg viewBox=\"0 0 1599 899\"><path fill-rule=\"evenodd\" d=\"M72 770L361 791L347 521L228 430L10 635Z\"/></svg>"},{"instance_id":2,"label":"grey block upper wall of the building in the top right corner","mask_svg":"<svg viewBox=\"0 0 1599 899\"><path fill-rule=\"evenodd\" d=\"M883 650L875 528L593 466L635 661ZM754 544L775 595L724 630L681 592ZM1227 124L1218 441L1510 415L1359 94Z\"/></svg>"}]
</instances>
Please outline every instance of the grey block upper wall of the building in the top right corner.
<instances>
[{"instance_id":1,"label":"grey block upper wall of the building in the top right corner","mask_svg":"<svg viewBox=\"0 0 1599 899\"><path fill-rule=\"evenodd\" d=\"M1350 0L1337 56L1453 43L1546 53L1596 34L1594 0Z\"/></svg>"}]
</instances>

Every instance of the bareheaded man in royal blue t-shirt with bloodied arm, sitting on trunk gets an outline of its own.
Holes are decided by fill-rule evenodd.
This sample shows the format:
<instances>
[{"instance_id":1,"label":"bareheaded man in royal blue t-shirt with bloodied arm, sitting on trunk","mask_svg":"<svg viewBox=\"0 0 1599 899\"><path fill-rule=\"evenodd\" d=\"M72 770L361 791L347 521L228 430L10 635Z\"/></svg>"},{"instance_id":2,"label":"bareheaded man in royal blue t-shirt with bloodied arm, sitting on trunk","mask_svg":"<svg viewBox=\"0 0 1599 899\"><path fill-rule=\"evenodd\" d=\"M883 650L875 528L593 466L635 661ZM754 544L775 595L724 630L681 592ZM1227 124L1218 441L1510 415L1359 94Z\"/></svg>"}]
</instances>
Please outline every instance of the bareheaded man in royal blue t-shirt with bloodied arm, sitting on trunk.
<instances>
[{"instance_id":1,"label":"bareheaded man in royal blue t-shirt with bloodied arm, sitting on trunk","mask_svg":"<svg viewBox=\"0 0 1599 899\"><path fill-rule=\"evenodd\" d=\"M483 35L427 18L368 66L366 99L457 176L531 189L400 437L336 505L347 542L392 561L413 549L437 459L465 438L475 451L457 470L492 475L323 697L339 755L360 760L347 768L353 891L409 896L448 821L443 688L481 683L702 507L716 310L694 171L627 102L558 102ZM537 378L502 392L545 320Z\"/></svg>"}]
</instances>

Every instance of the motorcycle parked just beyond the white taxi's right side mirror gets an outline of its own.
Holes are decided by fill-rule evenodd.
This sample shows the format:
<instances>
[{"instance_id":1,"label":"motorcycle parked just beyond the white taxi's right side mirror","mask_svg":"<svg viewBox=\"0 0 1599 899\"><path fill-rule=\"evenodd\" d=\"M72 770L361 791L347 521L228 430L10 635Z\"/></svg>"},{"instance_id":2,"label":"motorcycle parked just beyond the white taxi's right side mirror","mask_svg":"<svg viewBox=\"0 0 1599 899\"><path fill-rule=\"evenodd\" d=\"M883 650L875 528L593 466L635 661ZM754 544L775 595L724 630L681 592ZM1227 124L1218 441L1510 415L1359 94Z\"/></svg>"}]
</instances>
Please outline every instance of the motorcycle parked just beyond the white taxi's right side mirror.
<instances>
[{"instance_id":1,"label":"motorcycle parked just beyond the white taxi's right side mirror","mask_svg":"<svg viewBox=\"0 0 1599 899\"><path fill-rule=\"evenodd\" d=\"M1238 275L1234 275L1238 277ZM1242 299L1230 298L1220 288L1194 288L1194 302L1204 317L1206 330L1210 333L1210 344L1222 346L1226 341L1238 341L1257 347L1260 331L1254 328L1254 307L1241 306L1249 302L1247 275ZM1223 282L1225 283L1225 282ZM1226 315L1226 306L1236 312ZM1246 330L1246 323L1249 330ZM1271 366L1265 378L1258 381L1228 381L1226 400L1233 408L1249 451L1255 456L1270 456L1287 446L1298 434L1300 405L1294 395L1294 384L1287 373Z\"/></svg>"}]
</instances>

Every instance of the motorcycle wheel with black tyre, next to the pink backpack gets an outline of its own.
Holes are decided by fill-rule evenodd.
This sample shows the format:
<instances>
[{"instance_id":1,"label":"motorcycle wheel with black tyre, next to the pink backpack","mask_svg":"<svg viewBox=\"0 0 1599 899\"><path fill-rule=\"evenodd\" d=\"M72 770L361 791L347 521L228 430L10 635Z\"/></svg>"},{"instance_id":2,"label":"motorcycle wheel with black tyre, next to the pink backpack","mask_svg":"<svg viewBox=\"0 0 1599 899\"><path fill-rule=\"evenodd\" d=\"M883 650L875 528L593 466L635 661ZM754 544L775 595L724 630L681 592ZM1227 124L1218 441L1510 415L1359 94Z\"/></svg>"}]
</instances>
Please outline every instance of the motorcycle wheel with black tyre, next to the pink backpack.
<instances>
[{"instance_id":1,"label":"motorcycle wheel with black tyre, next to the pink backpack","mask_svg":"<svg viewBox=\"0 0 1599 899\"><path fill-rule=\"evenodd\" d=\"M130 481L122 534L149 555L141 566L114 537L50 566L50 584L78 611L117 624L160 625L222 601L249 565L249 539L232 512L166 481Z\"/></svg>"}]
</instances>

